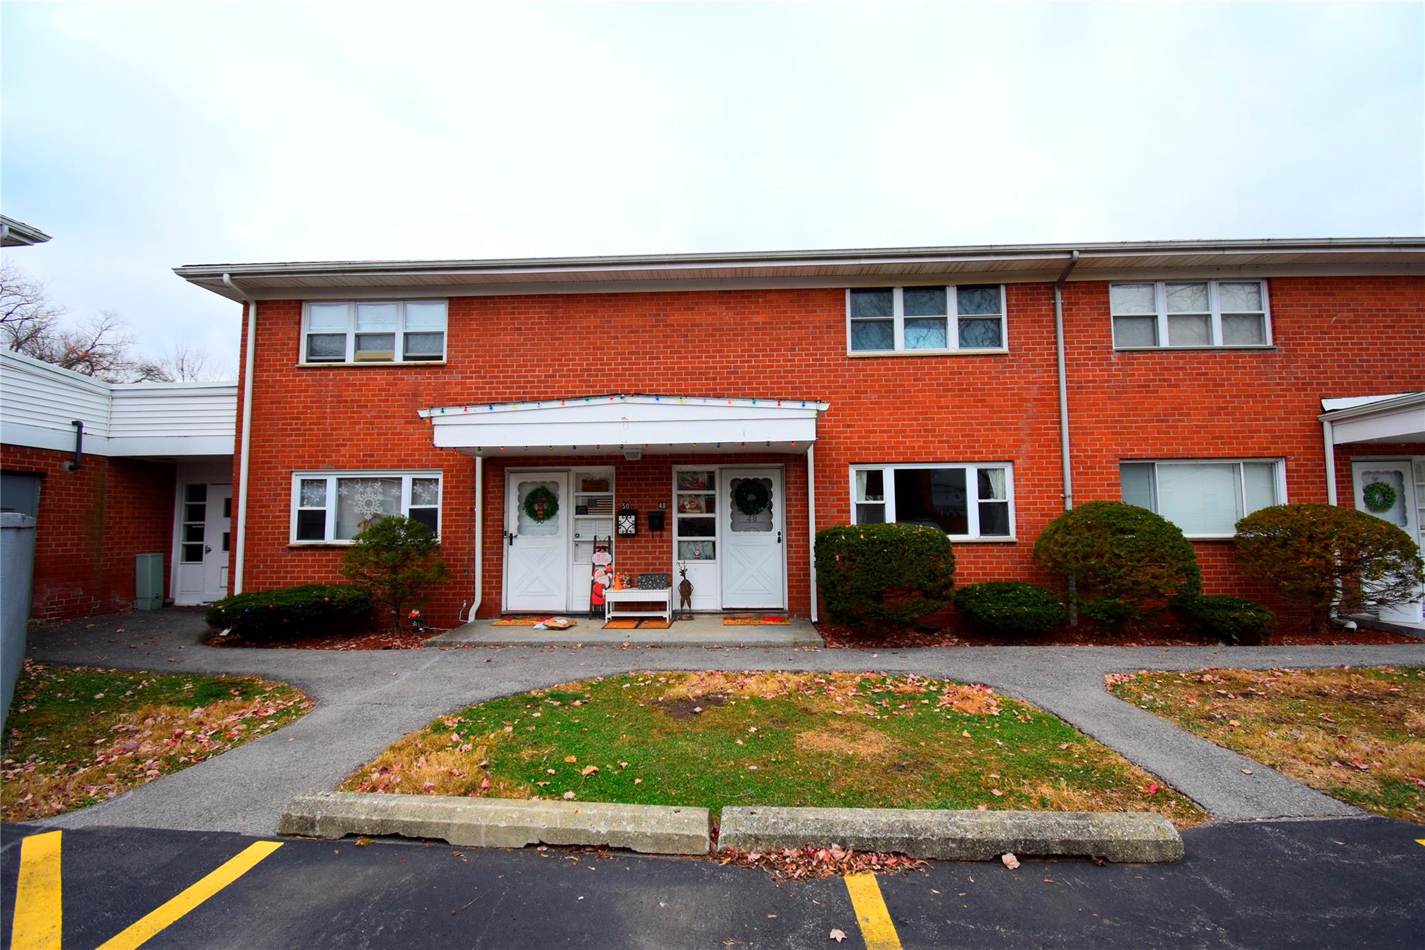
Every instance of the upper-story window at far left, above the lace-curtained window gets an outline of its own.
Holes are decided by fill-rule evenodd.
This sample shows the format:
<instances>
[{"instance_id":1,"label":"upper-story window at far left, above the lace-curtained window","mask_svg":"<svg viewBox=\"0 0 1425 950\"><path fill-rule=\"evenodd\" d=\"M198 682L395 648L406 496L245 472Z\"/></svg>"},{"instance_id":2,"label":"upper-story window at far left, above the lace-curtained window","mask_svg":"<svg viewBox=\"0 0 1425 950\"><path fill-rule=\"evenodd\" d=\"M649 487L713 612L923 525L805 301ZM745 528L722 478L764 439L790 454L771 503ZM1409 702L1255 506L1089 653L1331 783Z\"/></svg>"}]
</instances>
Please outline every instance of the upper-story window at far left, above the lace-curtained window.
<instances>
[{"instance_id":1,"label":"upper-story window at far left, above the lace-curtained window","mask_svg":"<svg viewBox=\"0 0 1425 950\"><path fill-rule=\"evenodd\" d=\"M311 301L305 363L429 363L445 359L446 301Z\"/></svg>"}]
</instances>

